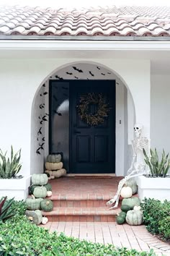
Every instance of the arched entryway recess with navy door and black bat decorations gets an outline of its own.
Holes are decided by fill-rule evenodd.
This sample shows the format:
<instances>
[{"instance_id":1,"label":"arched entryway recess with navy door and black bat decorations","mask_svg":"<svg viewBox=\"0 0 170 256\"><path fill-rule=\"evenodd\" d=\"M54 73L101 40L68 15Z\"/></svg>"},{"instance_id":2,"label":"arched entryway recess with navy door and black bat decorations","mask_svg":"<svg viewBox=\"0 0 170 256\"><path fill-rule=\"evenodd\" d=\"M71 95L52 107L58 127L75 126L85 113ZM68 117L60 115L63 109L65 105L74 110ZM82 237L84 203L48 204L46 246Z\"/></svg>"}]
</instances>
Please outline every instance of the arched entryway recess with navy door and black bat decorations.
<instances>
[{"instance_id":1,"label":"arched entryway recess with navy door and black bat decorations","mask_svg":"<svg viewBox=\"0 0 170 256\"><path fill-rule=\"evenodd\" d=\"M114 109L112 109L110 118L110 120L112 119L112 127L109 131L109 136L99 134L97 137L97 132L94 131L92 136L96 137L96 141L98 139L98 144L92 145L92 147L93 149L99 149L97 158L99 164L102 163L102 157L106 160L108 153L112 155L112 166L110 166L110 171L107 172L115 173L117 176L125 174L130 162L131 152L129 145L133 137L133 124L135 121L133 98L128 88L114 72L102 67L100 64L79 62L58 69L57 72L50 75L48 80L37 91L32 106L31 154L32 159L34 159L32 161L32 172L35 173L37 171L37 173L40 173L44 170L44 161L48 153L62 152L66 168L71 172L74 172L73 165L71 166L72 158L76 159L77 155L80 155L81 160L84 160L81 161L81 167L87 163L89 158L94 158L95 153L89 153L89 147L91 146L89 134L84 134L82 136L83 140L80 140L81 136L79 134L78 136L74 135L75 130L76 132L81 132L84 129L84 127L77 129L73 124L77 117L75 115L77 101L73 101L73 95L76 98L76 93L78 88L82 87L82 83L84 83L83 87L86 88L86 93L89 90L92 92L94 88L98 93L101 90L107 92L107 94L113 93L111 98L112 108ZM112 90L111 88L114 89ZM84 93L84 91L81 90L79 93ZM69 107L69 103L72 106L70 105ZM92 129L94 130L94 127ZM107 142L112 142L110 146L104 141L104 136L107 137ZM74 142L73 137L75 137ZM76 143L80 141L83 142L77 145ZM74 146L75 144L77 145L75 154L73 153L74 148L71 148L73 144ZM84 149L82 150L83 145ZM108 148L109 152L107 151ZM111 150L112 152L110 152ZM92 156L88 155L88 153ZM104 173L104 166L102 168ZM102 173L102 168L100 173ZM88 172L97 173L96 170L92 171L92 169L88 169Z\"/></svg>"}]
</instances>

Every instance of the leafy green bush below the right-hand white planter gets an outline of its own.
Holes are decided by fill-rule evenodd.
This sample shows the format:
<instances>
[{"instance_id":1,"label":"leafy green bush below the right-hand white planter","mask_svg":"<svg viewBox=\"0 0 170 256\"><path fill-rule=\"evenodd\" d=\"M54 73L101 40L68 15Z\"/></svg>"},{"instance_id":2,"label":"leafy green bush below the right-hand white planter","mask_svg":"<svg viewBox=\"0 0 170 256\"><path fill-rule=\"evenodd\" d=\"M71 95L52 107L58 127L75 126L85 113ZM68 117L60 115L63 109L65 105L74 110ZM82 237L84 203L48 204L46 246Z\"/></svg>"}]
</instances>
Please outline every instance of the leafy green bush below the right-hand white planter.
<instances>
[{"instance_id":1,"label":"leafy green bush below the right-hand white planter","mask_svg":"<svg viewBox=\"0 0 170 256\"><path fill-rule=\"evenodd\" d=\"M146 199L141 203L143 209L143 221L146 228L152 234L160 234L164 239L170 239L170 202L161 202L154 199Z\"/></svg>"}]
</instances>

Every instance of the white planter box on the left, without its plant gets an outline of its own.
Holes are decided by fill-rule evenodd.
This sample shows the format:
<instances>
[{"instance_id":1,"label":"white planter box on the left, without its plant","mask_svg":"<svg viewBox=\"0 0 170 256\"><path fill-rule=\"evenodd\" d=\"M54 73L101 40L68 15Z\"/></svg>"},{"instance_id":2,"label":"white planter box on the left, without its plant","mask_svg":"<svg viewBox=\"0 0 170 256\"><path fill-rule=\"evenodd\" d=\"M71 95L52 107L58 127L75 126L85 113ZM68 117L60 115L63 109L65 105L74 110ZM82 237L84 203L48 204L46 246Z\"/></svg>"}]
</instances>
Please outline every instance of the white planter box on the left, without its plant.
<instances>
[{"instance_id":1,"label":"white planter box on the left, without its plant","mask_svg":"<svg viewBox=\"0 0 170 256\"><path fill-rule=\"evenodd\" d=\"M25 200L30 187L30 176L22 179L0 179L0 198L7 196L15 200Z\"/></svg>"}]
</instances>

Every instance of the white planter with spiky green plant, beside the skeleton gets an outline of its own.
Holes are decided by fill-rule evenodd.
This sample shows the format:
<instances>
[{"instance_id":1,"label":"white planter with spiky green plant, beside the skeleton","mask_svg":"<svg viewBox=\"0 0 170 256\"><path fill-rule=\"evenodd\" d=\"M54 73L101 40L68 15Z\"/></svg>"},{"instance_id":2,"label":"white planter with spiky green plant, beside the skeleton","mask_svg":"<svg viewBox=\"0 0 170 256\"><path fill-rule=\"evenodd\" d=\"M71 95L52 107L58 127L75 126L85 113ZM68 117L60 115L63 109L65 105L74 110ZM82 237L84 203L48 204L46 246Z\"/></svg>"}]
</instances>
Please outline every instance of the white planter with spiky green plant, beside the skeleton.
<instances>
[{"instance_id":1,"label":"white planter with spiky green plant, beside the skeleton","mask_svg":"<svg viewBox=\"0 0 170 256\"><path fill-rule=\"evenodd\" d=\"M140 200L144 197L154 198L157 200L170 200L170 168L169 153L163 150L161 160L158 158L157 150L150 150L148 156L143 150L144 161L149 168L149 174L138 176L136 179L138 185L138 196Z\"/></svg>"}]
</instances>

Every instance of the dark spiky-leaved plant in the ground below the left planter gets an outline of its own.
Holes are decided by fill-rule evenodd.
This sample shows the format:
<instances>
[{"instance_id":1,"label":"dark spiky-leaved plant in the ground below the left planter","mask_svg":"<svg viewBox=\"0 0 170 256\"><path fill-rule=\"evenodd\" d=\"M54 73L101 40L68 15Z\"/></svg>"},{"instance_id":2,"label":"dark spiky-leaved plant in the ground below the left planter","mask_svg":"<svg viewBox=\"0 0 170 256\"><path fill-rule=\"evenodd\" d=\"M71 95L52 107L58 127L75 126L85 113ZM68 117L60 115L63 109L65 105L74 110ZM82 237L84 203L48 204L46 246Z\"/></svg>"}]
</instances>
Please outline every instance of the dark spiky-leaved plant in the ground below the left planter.
<instances>
[{"instance_id":1,"label":"dark spiky-leaved plant in the ground below the left planter","mask_svg":"<svg viewBox=\"0 0 170 256\"><path fill-rule=\"evenodd\" d=\"M5 221L7 218L14 216L15 208L10 209L14 203L14 198L6 202L7 197L1 197L0 200L0 221Z\"/></svg>"}]
</instances>

